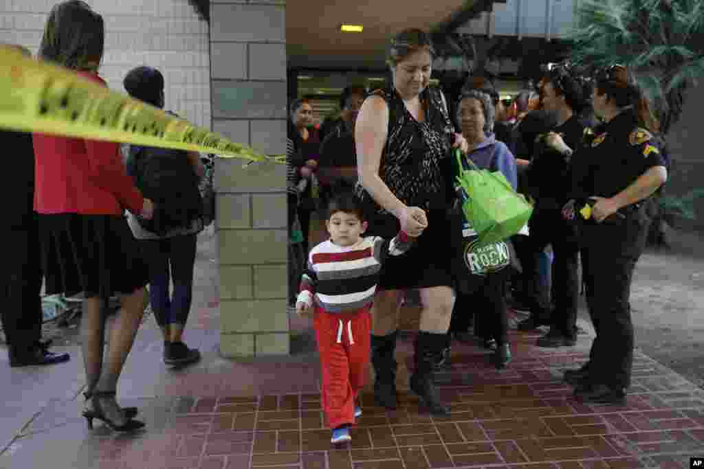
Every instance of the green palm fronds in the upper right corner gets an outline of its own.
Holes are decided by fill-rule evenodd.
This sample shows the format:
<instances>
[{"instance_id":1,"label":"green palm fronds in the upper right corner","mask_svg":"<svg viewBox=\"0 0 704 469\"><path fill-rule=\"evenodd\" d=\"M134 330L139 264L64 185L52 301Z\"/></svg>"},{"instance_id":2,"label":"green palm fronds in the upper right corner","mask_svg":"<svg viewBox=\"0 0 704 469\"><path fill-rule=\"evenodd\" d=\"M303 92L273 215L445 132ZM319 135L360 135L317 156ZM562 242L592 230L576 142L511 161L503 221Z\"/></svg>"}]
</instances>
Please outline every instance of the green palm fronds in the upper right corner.
<instances>
[{"instance_id":1,"label":"green palm fronds in the upper right corner","mask_svg":"<svg viewBox=\"0 0 704 469\"><path fill-rule=\"evenodd\" d=\"M585 0L569 39L576 63L629 67L665 133L686 89L704 77L703 0Z\"/></svg>"}]
</instances>

